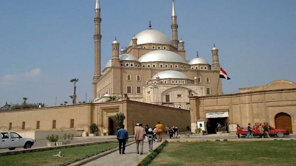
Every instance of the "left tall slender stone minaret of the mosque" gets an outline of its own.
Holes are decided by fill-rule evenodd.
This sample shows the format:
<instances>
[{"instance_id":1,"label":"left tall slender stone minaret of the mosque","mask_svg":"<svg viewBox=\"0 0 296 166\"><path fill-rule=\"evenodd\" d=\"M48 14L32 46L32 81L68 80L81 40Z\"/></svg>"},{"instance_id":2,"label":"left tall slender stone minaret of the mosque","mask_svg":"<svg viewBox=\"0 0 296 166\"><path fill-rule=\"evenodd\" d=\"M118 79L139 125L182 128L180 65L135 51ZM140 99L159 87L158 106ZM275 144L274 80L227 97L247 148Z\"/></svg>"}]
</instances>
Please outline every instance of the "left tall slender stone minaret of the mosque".
<instances>
[{"instance_id":1,"label":"left tall slender stone minaret of the mosque","mask_svg":"<svg viewBox=\"0 0 296 166\"><path fill-rule=\"evenodd\" d=\"M100 1L96 0L95 8L95 30L94 30L94 78L93 78L93 99L97 98L97 81L101 76L101 9Z\"/></svg>"}]
</instances>

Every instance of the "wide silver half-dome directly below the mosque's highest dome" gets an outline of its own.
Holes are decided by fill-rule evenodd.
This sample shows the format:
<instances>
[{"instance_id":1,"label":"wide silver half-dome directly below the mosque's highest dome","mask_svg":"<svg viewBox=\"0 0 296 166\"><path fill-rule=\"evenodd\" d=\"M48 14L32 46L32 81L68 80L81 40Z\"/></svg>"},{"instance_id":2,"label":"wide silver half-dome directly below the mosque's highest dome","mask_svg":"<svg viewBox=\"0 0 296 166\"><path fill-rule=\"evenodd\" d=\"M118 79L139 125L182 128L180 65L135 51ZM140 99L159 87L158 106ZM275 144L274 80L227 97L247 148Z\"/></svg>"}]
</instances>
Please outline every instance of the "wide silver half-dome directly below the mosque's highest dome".
<instances>
[{"instance_id":1,"label":"wide silver half-dome directly below the mosque's highest dome","mask_svg":"<svg viewBox=\"0 0 296 166\"><path fill-rule=\"evenodd\" d=\"M180 55L168 50L150 51L139 58L139 62L141 63L155 61L186 63Z\"/></svg>"}]
</instances>

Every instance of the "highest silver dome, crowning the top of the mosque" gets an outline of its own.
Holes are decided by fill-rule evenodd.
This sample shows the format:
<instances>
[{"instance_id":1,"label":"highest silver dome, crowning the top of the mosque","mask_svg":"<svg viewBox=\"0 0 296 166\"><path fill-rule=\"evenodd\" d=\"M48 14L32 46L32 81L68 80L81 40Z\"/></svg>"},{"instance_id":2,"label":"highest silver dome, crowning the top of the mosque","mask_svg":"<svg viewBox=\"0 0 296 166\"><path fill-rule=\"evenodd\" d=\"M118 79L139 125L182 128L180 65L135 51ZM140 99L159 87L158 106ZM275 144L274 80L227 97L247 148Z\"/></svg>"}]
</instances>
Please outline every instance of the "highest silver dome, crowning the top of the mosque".
<instances>
[{"instance_id":1,"label":"highest silver dome, crowning the top of the mosque","mask_svg":"<svg viewBox=\"0 0 296 166\"><path fill-rule=\"evenodd\" d=\"M170 38L163 32L157 31L155 29L144 30L135 36L137 40L137 45L145 43L157 43L157 44L167 44L173 45ZM132 41L129 43L129 46L132 45Z\"/></svg>"}]
</instances>

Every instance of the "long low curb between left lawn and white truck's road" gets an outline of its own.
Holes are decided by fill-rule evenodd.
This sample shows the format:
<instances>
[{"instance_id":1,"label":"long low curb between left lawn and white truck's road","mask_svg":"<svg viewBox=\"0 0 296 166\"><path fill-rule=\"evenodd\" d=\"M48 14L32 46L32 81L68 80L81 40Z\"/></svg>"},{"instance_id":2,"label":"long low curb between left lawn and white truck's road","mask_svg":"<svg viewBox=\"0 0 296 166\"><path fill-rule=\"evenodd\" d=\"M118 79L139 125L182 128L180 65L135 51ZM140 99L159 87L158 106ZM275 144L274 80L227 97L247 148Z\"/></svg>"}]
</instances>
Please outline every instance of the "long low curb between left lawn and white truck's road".
<instances>
[{"instance_id":1,"label":"long low curb between left lawn and white truck's road","mask_svg":"<svg viewBox=\"0 0 296 166\"><path fill-rule=\"evenodd\" d=\"M38 147L38 148L15 150L15 151L9 151L9 152L0 152L0 156L16 155L16 154L23 154L23 153L30 153L30 152L41 152L46 150L63 149L68 147L79 147L79 146L104 144L104 143L116 143L116 142L118 141L98 141L98 142L67 144L67 145L51 146L51 147Z\"/></svg>"}]
</instances>

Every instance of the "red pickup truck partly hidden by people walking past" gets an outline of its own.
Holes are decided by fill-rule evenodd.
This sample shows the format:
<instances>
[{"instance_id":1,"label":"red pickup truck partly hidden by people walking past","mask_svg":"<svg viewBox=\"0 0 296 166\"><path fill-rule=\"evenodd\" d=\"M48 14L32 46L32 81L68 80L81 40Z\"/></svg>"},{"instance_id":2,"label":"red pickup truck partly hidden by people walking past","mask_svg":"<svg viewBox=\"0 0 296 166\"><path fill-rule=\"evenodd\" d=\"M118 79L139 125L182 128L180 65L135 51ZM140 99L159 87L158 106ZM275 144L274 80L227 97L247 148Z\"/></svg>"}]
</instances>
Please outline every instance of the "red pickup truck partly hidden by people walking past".
<instances>
[{"instance_id":1,"label":"red pickup truck partly hidden by people walking past","mask_svg":"<svg viewBox=\"0 0 296 166\"><path fill-rule=\"evenodd\" d=\"M286 129L275 129L269 125L267 125L269 131L268 134L270 136L276 136L276 137L284 137L284 135L289 135L289 131ZM254 130L255 132L252 132L254 134L254 136L260 136L260 132L258 129L258 125L254 125L252 130ZM247 127L240 127L237 129L237 134L241 134L241 135L247 135L248 133L248 128Z\"/></svg>"}]
</instances>

